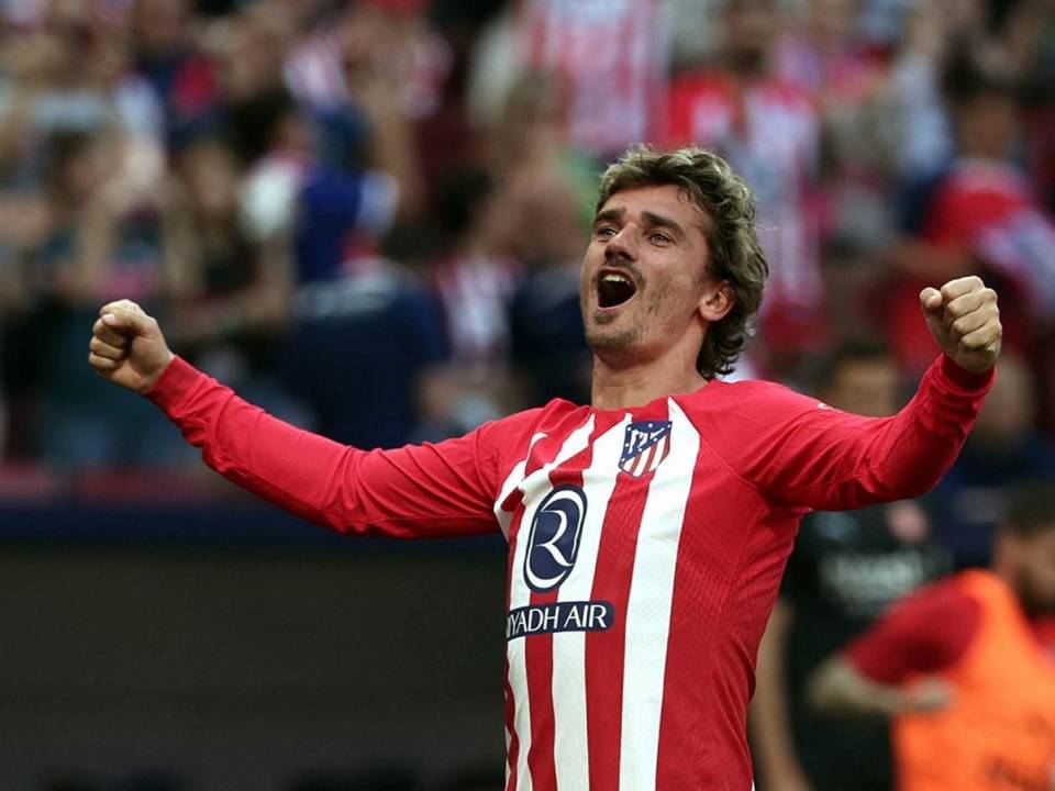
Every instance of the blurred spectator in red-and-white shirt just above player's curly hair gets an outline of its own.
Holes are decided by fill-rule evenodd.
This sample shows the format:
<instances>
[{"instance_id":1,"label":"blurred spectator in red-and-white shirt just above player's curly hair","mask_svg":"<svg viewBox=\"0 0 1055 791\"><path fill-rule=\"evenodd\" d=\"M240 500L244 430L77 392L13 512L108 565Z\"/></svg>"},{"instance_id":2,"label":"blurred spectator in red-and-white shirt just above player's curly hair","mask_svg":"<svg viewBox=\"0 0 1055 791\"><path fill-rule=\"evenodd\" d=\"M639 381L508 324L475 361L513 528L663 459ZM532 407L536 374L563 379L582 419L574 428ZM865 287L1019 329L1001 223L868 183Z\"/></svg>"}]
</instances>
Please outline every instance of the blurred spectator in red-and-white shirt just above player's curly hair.
<instances>
[{"instance_id":1,"label":"blurred spectator in red-and-white shirt just above player's curly hair","mask_svg":"<svg viewBox=\"0 0 1055 791\"><path fill-rule=\"evenodd\" d=\"M774 71L780 26L775 0L724 2L717 67L677 75L654 130L665 145L722 152L754 186L773 267L762 311L763 370L787 375L825 339L820 271L821 120L810 96Z\"/></svg>"}]
</instances>

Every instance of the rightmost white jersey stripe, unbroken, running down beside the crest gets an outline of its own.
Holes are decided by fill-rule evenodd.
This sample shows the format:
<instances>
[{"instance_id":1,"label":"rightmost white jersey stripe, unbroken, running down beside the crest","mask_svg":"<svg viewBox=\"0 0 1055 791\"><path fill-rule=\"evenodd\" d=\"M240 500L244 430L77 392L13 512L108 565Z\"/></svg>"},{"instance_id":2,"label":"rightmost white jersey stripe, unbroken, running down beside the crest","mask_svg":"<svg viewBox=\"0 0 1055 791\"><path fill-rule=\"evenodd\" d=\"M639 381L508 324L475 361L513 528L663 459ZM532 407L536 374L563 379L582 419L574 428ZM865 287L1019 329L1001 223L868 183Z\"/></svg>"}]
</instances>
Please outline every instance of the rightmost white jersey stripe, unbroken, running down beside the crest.
<instances>
[{"instance_id":1,"label":"rightmost white jersey stripe, unbroken, running down beside the crest","mask_svg":"<svg viewBox=\"0 0 1055 791\"><path fill-rule=\"evenodd\" d=\"M654 788L659 753L659 714L674 600L674 572L700 436L685 412L667 399L670 455L648 488L634 554L626 603L623 657L623 724L620 739L621 791Z\"/></svg>"}]
</instances>

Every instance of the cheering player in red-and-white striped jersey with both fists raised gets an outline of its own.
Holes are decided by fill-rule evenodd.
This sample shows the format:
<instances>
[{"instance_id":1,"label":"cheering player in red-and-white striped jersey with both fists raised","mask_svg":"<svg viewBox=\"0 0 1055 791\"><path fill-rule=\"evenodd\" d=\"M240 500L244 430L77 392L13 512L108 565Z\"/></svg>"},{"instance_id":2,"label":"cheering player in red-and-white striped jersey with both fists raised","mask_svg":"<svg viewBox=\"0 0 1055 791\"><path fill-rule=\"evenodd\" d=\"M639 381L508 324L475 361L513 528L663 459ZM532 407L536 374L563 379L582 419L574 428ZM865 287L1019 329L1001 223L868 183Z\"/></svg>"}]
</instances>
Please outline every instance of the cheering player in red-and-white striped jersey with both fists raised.
<instances>
[{"instance_id":1,"label":"cheering player in red-and-white striped jersey with both fists raised","mask_svg":"<svg viewBox=\"0 0 1055 791\"><path fill-rule=\"evenodd\" d=\"M590 405L363 452L240 400L127 301L102 308L89 361L165 410L209 465L301 516L506 535L510 789L746 791L755 654L799 517L933 486L1001 334L977 278L925 289L941 354L888 419L725 383L766 275L751 191L724 160L635 148L602 178L582 261Z\"/></svg>"}]
</instances>

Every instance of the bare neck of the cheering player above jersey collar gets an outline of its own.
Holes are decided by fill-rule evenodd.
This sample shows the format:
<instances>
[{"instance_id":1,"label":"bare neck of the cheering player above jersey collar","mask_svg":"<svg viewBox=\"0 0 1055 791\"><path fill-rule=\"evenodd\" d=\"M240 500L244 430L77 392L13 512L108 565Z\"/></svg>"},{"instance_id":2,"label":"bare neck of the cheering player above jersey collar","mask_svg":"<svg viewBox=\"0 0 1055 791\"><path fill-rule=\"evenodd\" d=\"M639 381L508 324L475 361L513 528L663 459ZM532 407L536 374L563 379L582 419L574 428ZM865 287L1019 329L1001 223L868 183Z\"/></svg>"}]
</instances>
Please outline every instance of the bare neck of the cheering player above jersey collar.
<instances>
[{"instance_id":1,"label":"bare neck of the cheering player above jersey collar","mask_svg":"<svg viewBox=\"0 0 1055 791\"><path fill-rule=\"evenodd\" d=\"M695 392L706 383L695 357L615 367L595 355L590 401L597 409L630 409L665 396Z\"/></svg>"}]
</instances>

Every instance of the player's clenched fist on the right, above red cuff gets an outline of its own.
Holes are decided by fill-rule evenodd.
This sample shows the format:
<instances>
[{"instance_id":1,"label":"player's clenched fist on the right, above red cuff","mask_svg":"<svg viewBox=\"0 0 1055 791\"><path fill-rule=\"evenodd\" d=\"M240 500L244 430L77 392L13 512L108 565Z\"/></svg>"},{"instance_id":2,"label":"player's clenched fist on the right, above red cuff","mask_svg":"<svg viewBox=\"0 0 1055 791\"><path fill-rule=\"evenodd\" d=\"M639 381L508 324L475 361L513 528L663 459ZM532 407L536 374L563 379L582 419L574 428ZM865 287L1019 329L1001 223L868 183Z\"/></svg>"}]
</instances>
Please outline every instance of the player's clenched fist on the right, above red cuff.
<instances>
[{"instance_id":1,"label":"player's clenched fist on the right, above red cuff","mask_svg":"<svg viewBox=\"0 0 1055 791\"><path fill-rule=\"evenodd\" d=\"M971 275L941 289L925 288L920 305L934 341L959 367L980 374L997 361L1003 335L1000 309L997 292L981 278Z\"/></svg>"}]
</instances>

